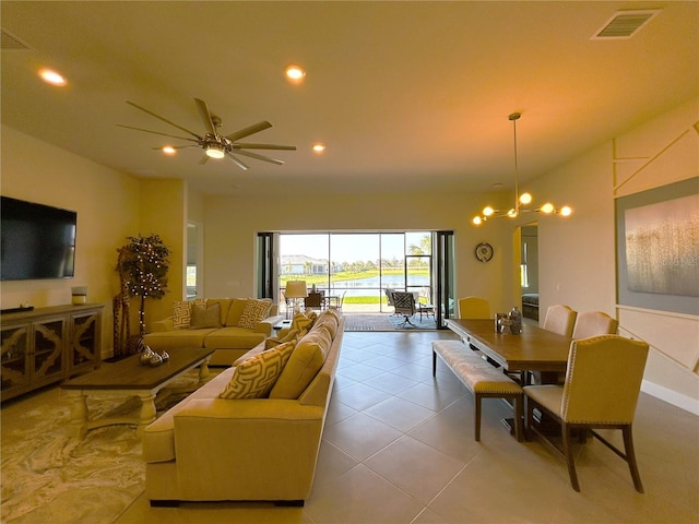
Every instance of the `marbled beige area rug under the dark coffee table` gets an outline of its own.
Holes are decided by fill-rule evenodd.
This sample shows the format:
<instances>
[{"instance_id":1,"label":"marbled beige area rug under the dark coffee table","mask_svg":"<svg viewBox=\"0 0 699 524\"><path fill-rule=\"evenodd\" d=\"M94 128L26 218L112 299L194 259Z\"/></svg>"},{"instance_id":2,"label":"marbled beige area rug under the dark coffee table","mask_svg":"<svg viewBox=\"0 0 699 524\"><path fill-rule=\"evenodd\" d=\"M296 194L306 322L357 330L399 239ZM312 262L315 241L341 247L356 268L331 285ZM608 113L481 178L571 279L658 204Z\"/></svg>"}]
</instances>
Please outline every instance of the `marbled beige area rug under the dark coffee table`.
<instances>
[{"instance_id":1,"label":"marbled beige area rug under the dark coffee table","mask_svg":"<svg viewBox=\"0 0 699 524\"><path fill-rule=\"evenodd\" d=\"M196 389L198 370L164 389L158 415ZM16 524L115 522L143 492L141 439L126 425L68 434L70 398L58 386L2 407L0 521ZM91 419L140 408L137 397L88 400Z\"/></svg>"}]
</instances>

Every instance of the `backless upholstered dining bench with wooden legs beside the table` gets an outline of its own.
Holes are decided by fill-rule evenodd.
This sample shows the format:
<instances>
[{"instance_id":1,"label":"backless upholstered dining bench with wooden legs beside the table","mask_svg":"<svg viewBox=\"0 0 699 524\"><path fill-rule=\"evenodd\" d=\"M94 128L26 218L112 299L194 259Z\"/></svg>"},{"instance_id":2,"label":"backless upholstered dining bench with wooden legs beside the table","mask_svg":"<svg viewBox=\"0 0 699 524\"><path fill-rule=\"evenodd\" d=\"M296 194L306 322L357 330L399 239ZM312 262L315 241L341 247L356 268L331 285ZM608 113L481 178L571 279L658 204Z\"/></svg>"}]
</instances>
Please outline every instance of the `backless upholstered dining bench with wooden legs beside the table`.
<instances>
[{"instance_id":1,"label":"backless upholstered dining bench with wooden legs beside the table","mask_svg":"<svg viewBox=\"0 0 699 524\"><path fill-rule=\"evenodd\" d=\"M523 436L523 390L502 372L459 341L433 342L433 377L437 376L437 356L454 372L473 393L475 404L475 440L481 440L481 401L483 398L507 398L514 404L514 434L518 441Z\"/></svg>"}]
</instances>

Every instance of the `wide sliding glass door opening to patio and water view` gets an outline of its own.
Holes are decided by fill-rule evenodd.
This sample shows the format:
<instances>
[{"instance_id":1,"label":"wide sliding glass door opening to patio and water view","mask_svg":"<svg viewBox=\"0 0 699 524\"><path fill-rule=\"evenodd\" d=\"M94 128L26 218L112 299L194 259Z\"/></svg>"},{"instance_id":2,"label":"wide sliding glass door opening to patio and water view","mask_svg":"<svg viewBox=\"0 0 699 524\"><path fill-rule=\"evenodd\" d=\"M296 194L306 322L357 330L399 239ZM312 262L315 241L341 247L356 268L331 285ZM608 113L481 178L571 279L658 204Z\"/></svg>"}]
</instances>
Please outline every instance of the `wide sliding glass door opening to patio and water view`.
<instances>
[{"instance_id":1,"label":"wide sliding glass door opening to patio and water view","mask_svg":"<svg viewBox=\"0 0 699 524\"><path fill-rule=\"evenodd\" d=\"M304 281L308 289L342 302L346 313L383 313L393 312L387 289L410 291L434 307L439 326L453 312L452 237L451 231L260 234L260 293L272 293L266 287L272 283L273 298L283 297L286 282Z\"/></svg>"}]
</instances>

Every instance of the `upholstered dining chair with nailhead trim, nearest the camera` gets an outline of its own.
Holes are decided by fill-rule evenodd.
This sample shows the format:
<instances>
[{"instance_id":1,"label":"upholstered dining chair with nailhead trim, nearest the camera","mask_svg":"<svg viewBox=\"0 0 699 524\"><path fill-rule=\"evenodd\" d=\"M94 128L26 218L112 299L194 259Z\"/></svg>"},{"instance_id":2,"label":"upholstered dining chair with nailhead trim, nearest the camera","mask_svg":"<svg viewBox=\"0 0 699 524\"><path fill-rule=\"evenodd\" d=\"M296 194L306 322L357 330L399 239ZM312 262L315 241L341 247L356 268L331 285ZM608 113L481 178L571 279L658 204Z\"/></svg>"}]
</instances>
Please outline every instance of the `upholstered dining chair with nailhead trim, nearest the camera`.
<instances>
[{"instance_id":1,"label":"upholstered dining chair with nailhead trim, nearest the camera","mask_svg":"<svg viewBox=\"0 0 699 524\"><path fill-rule=\"evenodd\" d=\"M633 487L643 485L636 463L631 424L648 358L648 344L619 335L600 335L572 341L562 385L524 386L528 436L536 433L566 460L570 484L580 491L571 441L573 429L590 431L594 438L624 458ZM550 440L534 421L534 409L560 426L562 445ZM624 451L594 429L620 429Z\"/></svg>"}]
</instances>

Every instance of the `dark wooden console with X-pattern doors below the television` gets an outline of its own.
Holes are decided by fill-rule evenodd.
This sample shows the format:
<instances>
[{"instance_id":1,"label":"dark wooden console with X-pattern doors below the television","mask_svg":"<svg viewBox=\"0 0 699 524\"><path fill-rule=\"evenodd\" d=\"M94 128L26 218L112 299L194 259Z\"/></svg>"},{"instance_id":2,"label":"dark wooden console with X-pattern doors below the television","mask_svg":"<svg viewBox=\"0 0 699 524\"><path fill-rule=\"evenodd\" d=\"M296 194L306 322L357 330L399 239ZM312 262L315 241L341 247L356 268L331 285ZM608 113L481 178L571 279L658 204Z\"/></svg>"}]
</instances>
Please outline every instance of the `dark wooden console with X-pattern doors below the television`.
<instances>
[{"instance_id":1,"label":"dark wooden console with X-pattern doors below the television","mask_svg":"<svg viewBox=\"0 0 699 524\"><path fill-rule=\"evenodd\" d=\"M2 401L98 368L103 309L99 303L85 303L3 313Z\"/></svg>"}]
</instances>

